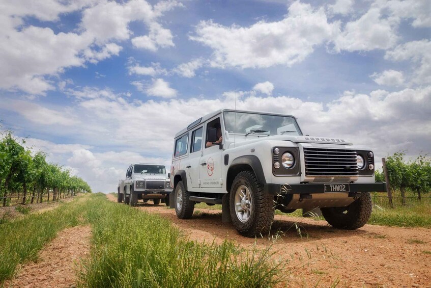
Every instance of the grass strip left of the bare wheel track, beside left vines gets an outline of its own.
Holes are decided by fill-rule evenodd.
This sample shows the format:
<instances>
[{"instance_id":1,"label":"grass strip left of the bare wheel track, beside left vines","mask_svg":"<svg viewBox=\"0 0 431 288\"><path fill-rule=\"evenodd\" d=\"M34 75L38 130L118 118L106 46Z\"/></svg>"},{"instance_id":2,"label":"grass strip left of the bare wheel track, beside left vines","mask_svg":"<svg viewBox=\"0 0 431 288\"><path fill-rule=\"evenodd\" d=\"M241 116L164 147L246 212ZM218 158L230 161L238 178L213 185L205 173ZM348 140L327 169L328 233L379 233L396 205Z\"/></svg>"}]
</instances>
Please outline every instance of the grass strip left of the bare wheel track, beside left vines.
<instances>
[{"instance_id":1,"label":"grass strip left of the bare wheel track, beside left vines","mask_svg":"<svg viewBox=\"0 0 431 288\"><path fill-rule=\"evenodd\" d=\"M42 214L4 221L0 224L0 283L15 275L16 267L27 260L37 260L42 247L66 227L79 223L77 201L64 204Z\"/></svg>"}]
</instances>

